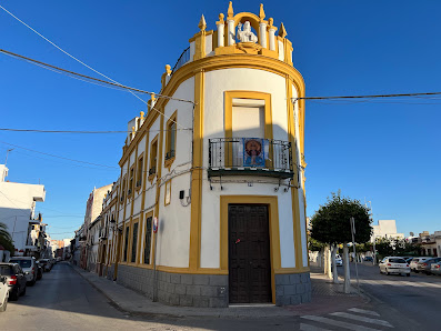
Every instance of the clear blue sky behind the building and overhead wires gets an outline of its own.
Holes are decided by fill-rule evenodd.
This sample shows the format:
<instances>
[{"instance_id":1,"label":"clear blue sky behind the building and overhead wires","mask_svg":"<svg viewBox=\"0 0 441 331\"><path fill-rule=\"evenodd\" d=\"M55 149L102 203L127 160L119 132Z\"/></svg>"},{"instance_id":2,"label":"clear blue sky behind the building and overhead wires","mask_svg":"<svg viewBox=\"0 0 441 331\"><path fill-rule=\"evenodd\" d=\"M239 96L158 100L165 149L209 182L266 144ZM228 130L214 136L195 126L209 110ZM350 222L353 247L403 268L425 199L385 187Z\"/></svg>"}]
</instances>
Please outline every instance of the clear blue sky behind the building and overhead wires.
<instances>
[{"instance_id":1,"label":"clear blue sky behind the building and overhead wires","mask_svg":"<svg viewBox=\"0 0 441 331\"><path fill-rule=\"evenodd\" d=\"M183 4L184 3L184 4ZM260 1L234 1L234 12L259 12ZM1 1L24 22L100 72L159 91L198 32L228 1ZM283 22L307 94L441 91L439 1L268 1L267 18ZM0 10L0 48L84 74L77 63ZM359 100L360 101L360 100ZM372 201L374 220L395 219L407 235L441 230L441 98L307 101L308 215L341 190ZM144 110L133 96L89 84L0 54L2 128L126 130ZM4 142L71 159L118 167L124 134L46 134L0 131ZM69 238L83 221L93 187L119 170L57 160L14 149L10 181L46 185L39 203L53 238Z\"/></svg>"}]
</instances>

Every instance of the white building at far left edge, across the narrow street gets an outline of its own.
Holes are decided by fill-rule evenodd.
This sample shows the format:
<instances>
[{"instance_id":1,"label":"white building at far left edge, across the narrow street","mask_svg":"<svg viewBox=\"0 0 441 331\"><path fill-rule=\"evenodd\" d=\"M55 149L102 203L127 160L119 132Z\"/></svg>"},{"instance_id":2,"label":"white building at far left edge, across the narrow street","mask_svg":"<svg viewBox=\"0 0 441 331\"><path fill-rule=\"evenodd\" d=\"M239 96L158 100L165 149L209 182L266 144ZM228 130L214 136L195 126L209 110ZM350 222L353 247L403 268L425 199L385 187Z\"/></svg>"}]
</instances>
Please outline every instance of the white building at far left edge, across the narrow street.
<instances>
[{"instance_id":1,"label":"white building at far left edge, across the narrow street","mask_svg":"<svg viewBox=\"0 0 441 331\"><path fill-rule=\"evenodd\" d=\"M8 168L0 164L0 222L12 235L16 255L39 257L47 242L42 217L36 217L36 204L44 201L44 185L10 182L7 177Z\"/></svg>"}]
</instances>

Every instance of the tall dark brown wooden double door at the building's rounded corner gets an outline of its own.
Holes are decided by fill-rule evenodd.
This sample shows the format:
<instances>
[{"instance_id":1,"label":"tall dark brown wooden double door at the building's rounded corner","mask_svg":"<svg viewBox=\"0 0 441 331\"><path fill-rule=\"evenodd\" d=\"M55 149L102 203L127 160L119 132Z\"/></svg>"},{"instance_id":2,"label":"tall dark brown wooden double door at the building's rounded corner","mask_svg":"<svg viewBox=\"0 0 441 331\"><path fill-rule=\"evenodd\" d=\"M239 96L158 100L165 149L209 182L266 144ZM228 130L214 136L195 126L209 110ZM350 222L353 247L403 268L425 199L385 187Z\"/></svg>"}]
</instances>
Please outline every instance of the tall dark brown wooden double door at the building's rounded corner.
<instances>
[{"instance_id":1,"label":"tall dark brown wooden double door at the building's rounded corner","mask_svg":"<svg viewBox=\"0 0 441 331\"><path fill-rule=\"evenodd\" d=\"M267 204L229 204L230 303L271 302Z\"/></svg>"}]
</instances>

